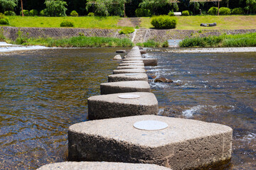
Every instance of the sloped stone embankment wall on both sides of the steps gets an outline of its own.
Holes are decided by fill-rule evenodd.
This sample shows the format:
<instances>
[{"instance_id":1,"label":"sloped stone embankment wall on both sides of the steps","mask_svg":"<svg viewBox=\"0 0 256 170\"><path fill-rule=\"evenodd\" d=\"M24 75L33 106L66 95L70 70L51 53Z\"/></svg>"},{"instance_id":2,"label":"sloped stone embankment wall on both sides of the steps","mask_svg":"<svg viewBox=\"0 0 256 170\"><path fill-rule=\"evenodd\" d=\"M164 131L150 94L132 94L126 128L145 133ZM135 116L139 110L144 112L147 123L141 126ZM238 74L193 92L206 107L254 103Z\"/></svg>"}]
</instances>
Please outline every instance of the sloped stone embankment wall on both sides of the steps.
<instances>
[{"instance_id":1,"label":"sloped stone embankment wall on both sides of the steps","mask_svg":"<svg viewBox=\"0 0 256 170\"><path fill-rule=\"evenodd\" d=\"M18 30L20 30L28 38L70 38L78 35L85 35L88 37L113 37L113 38L129 38L132 40L134 33L129 35L119 35L115 29L83 29L83 28L16 28L16 27L1 27L4 30L6 38L15 40L18 37ZM206 37L208 35L221 35L223 33L238 34L238 33L255 33L256 29L251 30L155 30L149 29L146 31L144 41L156 40L164 42L166 40L183 40L184 38L200 36Z\"/></svg>"}]
</instances>

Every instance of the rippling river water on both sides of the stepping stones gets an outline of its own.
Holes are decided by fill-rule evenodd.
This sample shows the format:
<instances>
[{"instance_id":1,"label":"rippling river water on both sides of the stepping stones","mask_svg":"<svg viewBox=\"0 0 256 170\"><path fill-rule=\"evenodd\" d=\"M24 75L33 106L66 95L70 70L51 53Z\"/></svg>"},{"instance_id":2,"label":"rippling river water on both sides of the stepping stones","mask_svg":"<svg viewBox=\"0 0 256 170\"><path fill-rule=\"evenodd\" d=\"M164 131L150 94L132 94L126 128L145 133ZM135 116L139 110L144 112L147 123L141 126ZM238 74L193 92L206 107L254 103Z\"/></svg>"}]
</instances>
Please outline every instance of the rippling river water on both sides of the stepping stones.
<instances>
[{"instance_id":1,"label":"rippling river water on both sides of the stepping stones","mask_svg":"<svg viewBox=\"0 0 256 170\"><path fill-rule=\"evenodd\" d=\"M0 53L0 169L36 169L67 157L68 127L119 64L114 48ZM159 114L233 128L224 169L256 169L256 53L151 51L146 67ZM154 77L174 83L154 83Z\"/></svg>"}]
</instances>

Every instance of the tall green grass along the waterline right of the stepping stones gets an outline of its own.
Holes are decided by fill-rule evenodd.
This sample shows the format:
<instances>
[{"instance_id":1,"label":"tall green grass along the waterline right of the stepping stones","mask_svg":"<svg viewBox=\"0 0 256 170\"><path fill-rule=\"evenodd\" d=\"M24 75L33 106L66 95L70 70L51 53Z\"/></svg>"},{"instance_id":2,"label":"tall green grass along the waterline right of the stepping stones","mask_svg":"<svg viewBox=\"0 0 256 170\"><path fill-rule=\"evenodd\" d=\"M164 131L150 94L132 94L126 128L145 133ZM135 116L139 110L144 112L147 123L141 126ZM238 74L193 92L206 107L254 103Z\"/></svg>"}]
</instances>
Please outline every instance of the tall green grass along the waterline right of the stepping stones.
<instances>
[{"instance_id":1,"label":"tall green grass along the waterline right of the stepping stones","mask_svg":"<svg viewBox=\"0 0 256 170\"><path fill-rule=\"evenodd\" d=\"M256 33L186 38L180 47L256 47Z\"/></svg>"}]
</instances>

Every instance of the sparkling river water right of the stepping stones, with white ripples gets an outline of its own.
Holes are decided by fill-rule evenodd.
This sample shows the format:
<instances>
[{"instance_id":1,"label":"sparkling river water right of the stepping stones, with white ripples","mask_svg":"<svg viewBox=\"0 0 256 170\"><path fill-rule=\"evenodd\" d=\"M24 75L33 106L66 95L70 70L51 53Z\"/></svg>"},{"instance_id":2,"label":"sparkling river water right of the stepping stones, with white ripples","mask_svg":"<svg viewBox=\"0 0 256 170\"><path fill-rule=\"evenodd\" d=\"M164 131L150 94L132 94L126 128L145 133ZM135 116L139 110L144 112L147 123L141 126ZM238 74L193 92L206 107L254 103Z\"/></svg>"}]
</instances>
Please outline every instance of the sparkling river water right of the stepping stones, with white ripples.
<instances>
[{"instance_id":1,"label":"sparkling river water right of the stepping stones, with white ripples","mask_svg":"<svg viewBox=\"0 0 256 170\"><path fill-rule=\"evenodd\" d=\"M159 114L221 123L233 128L228 169L256 169L256 53L149 52L159 66L146 67Z\"/></svg>"}]
</instances>

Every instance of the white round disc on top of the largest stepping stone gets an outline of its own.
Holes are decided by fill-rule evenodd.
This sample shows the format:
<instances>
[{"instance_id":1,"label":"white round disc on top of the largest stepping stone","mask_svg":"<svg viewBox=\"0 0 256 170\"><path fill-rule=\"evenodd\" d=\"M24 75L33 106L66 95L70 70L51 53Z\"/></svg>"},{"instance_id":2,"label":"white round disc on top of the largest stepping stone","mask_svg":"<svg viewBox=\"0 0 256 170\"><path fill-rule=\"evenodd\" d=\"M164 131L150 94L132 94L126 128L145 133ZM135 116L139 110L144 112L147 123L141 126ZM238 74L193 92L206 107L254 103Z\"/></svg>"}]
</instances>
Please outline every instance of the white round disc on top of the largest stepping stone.
<instances>
[{"instance_id":1,"label":"white round disc on top of the largest stepping stone","mask_svg":"<svg viewBox=\"0 0 256 170\"><path fill-rule=\"evenodd\" d=\"M167 123L157 120L142 120L134 123L134 128L137 128L139 130L162 130L167 127Z\"/></svg>"}]
</instances>

